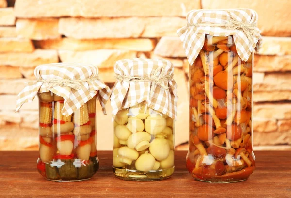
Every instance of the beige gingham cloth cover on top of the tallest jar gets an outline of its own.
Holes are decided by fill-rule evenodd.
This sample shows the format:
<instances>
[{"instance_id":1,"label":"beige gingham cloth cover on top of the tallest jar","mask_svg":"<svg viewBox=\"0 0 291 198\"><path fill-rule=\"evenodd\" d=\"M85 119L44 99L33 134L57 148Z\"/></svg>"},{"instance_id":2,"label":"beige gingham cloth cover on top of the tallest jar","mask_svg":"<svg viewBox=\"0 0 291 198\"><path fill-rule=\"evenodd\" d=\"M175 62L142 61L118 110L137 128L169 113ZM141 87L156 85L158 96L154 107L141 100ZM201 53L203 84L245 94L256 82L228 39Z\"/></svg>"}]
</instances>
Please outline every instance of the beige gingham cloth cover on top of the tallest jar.
<instances>
[{"instance_id":1,"label":"beige gingham cloth cover on top of the tallest jar","mask_svg":"<svg viewBox=\"0 0 291 198\"><path fill-rule=\"evenodd\" d=\"M177 34L183 42L183 48L190 64L194 63L202 49L205 34L212 36L232 35L242 61L247 61L254 50L259 51L262 44L260 30L256 27L258 14L251 9L192 10L186 19L187 26L179 29ZM231 21L235 24L230 24ZM199 26L199 24L202 25ZM221 26L217 24L221 24ZM250 26L252 26L250 34L253 35L251 40L245 34Z\"/></svg>"}]
</instances>

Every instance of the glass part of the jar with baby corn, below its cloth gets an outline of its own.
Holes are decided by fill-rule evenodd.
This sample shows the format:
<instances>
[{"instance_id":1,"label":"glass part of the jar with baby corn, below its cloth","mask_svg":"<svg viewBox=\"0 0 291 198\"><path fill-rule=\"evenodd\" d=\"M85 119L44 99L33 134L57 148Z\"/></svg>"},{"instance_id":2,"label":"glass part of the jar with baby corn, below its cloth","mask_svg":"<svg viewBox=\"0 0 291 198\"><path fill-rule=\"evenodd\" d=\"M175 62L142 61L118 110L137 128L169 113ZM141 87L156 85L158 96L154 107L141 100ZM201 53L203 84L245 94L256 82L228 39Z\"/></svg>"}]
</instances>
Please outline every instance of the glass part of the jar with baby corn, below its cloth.
<instances>
[{"instance_id":1,"label":"glass part of the jar with baby corn, below its cloth","mask_svg":"<svg viewBox=\"0 0 291 198\"><path fill-rule=\"evenodd\" d=\"M62 115L64 99L52 92L39 97L38 172L52 181L90 179L99 168L96 152L96 98L73 114Z\"/></svg>"}]
</instances>

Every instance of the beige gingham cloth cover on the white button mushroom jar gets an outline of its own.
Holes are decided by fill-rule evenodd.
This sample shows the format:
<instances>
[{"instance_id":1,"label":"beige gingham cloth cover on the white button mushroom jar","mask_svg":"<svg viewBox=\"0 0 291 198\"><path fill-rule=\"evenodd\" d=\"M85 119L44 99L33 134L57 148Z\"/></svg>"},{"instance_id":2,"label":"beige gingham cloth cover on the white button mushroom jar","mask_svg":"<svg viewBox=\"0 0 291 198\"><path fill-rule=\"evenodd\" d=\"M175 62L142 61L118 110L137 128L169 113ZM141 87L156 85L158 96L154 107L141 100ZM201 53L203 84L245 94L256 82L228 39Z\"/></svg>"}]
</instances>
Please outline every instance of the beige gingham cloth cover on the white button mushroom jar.
<instances>
[{"instance_id":1,"label":"beige gingham cloth cover on the white button mushroom jar","mask_svg":"<svg viewBox=\"0 0 291 198\"><path fill-rule=\"evenodd\" d=\"M111 93L113 118L121 109L143 101L149 108L175 119L177 112L177 84L174 67L163 59L124 59L115 63L117 81Z\"/></svg>"}]
</instances>

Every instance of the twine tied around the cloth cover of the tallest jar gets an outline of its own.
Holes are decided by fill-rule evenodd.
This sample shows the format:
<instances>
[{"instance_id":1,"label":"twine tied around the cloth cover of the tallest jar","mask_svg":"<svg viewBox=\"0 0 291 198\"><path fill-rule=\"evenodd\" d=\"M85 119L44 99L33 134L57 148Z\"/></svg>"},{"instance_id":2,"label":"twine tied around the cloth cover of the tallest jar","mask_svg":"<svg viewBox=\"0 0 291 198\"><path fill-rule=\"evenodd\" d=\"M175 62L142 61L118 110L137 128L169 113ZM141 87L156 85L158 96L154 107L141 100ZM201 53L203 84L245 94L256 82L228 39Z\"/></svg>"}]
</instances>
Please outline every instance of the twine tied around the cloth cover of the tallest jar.
<instances>
[{"instance_id":1,"label":"twine tied around the cloth cover of the tallest jar","mask_svg":"<svg viewBox=\"0 0 291 198\"><path fill-rule=\"evenodd\" d=\"M260 37L260 30L257 28L256 23L244 23L242 21L237 20L229 11L227 11L227 14L230 17L230 20L228 20L225 24L218 24L218 23L188 23L187 26L194 26L199 27L221 27L226 28L228 30L240 30L242 31L248 40L252 41L252 38L255 37L257 40L259 40Z\"/></svg>"}]
</instances>

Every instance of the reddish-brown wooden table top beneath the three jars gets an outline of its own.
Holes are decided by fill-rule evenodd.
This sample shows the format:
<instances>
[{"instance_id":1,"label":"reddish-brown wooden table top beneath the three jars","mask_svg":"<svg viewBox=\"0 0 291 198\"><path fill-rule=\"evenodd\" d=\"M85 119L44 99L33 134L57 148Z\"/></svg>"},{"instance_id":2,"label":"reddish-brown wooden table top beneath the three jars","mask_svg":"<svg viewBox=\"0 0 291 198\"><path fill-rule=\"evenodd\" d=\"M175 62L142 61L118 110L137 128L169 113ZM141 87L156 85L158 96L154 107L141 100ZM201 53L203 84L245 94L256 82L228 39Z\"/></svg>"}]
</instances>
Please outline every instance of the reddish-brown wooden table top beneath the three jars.
<instances>
[{"instance_id":1,"label":"reddish-brown wooden table top beneath the three jars","mask_svg":"<svg viewBox=\"0 0 291 198\"><path fill-rule=\"evenodd\" d=\"M123 181L112 172L112 152L99 151L100 169L88 181L47 181L36 170L35 151L0 152L0 197L100 198L291 198L291 151L257 151L256 170L247 181L211 184L195 181L176 151L175 173L153 182Z\"/></svg>"}]
</instances>

